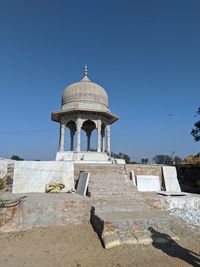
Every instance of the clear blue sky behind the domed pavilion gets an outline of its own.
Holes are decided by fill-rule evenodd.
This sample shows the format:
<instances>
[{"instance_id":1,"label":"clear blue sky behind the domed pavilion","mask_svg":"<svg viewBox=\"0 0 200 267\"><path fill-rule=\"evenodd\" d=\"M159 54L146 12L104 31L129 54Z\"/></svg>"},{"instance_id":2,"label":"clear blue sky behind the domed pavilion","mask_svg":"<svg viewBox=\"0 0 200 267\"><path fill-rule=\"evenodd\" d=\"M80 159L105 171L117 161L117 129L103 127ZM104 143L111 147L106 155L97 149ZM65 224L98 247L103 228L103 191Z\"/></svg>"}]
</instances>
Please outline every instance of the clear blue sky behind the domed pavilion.
<instances>
[{"instance_id":1,"label":"clear blue sky behind the domed pavilion","mask_svg":"<svg viewBox=\"0 0 200 267\"><path fill-rule=\"evenodd\" d=\"M50 114L85 64L120 117L114 152L137 161L199 152L190 135L200 106L199 14L199 0L1 0L0 156L55 158Z\"/></svg>"}]
</instances>

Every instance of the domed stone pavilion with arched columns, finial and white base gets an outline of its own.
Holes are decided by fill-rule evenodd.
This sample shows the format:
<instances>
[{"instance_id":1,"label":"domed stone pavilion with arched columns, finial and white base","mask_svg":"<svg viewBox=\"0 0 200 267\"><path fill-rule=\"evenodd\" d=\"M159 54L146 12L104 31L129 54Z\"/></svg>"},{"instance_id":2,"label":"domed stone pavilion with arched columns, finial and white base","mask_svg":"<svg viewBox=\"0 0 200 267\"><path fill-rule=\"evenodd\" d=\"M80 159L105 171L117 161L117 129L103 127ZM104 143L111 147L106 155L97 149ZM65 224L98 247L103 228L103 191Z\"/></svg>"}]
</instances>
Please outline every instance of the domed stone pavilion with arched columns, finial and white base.
<instances>
[{"instance_id":1,"label":"domed stone pavilion with arched columns, finial and white base","mask_svg":"<svg viewBox=\"0 0 200 267\"><path fill-rule=\"evenodd\" d=\"M110 126L118 117L108 108L105 89L88 78L87 66L83 79L65 88L61 111L52 112L51 119L60 123L56 160L109 161ZM66 128L70 130L70 151L65 151ZM91 135L95 129L97 147L91 151ZM81 130L87 136L86 151L81 151Z\"/></svg>"}]
</instances>

